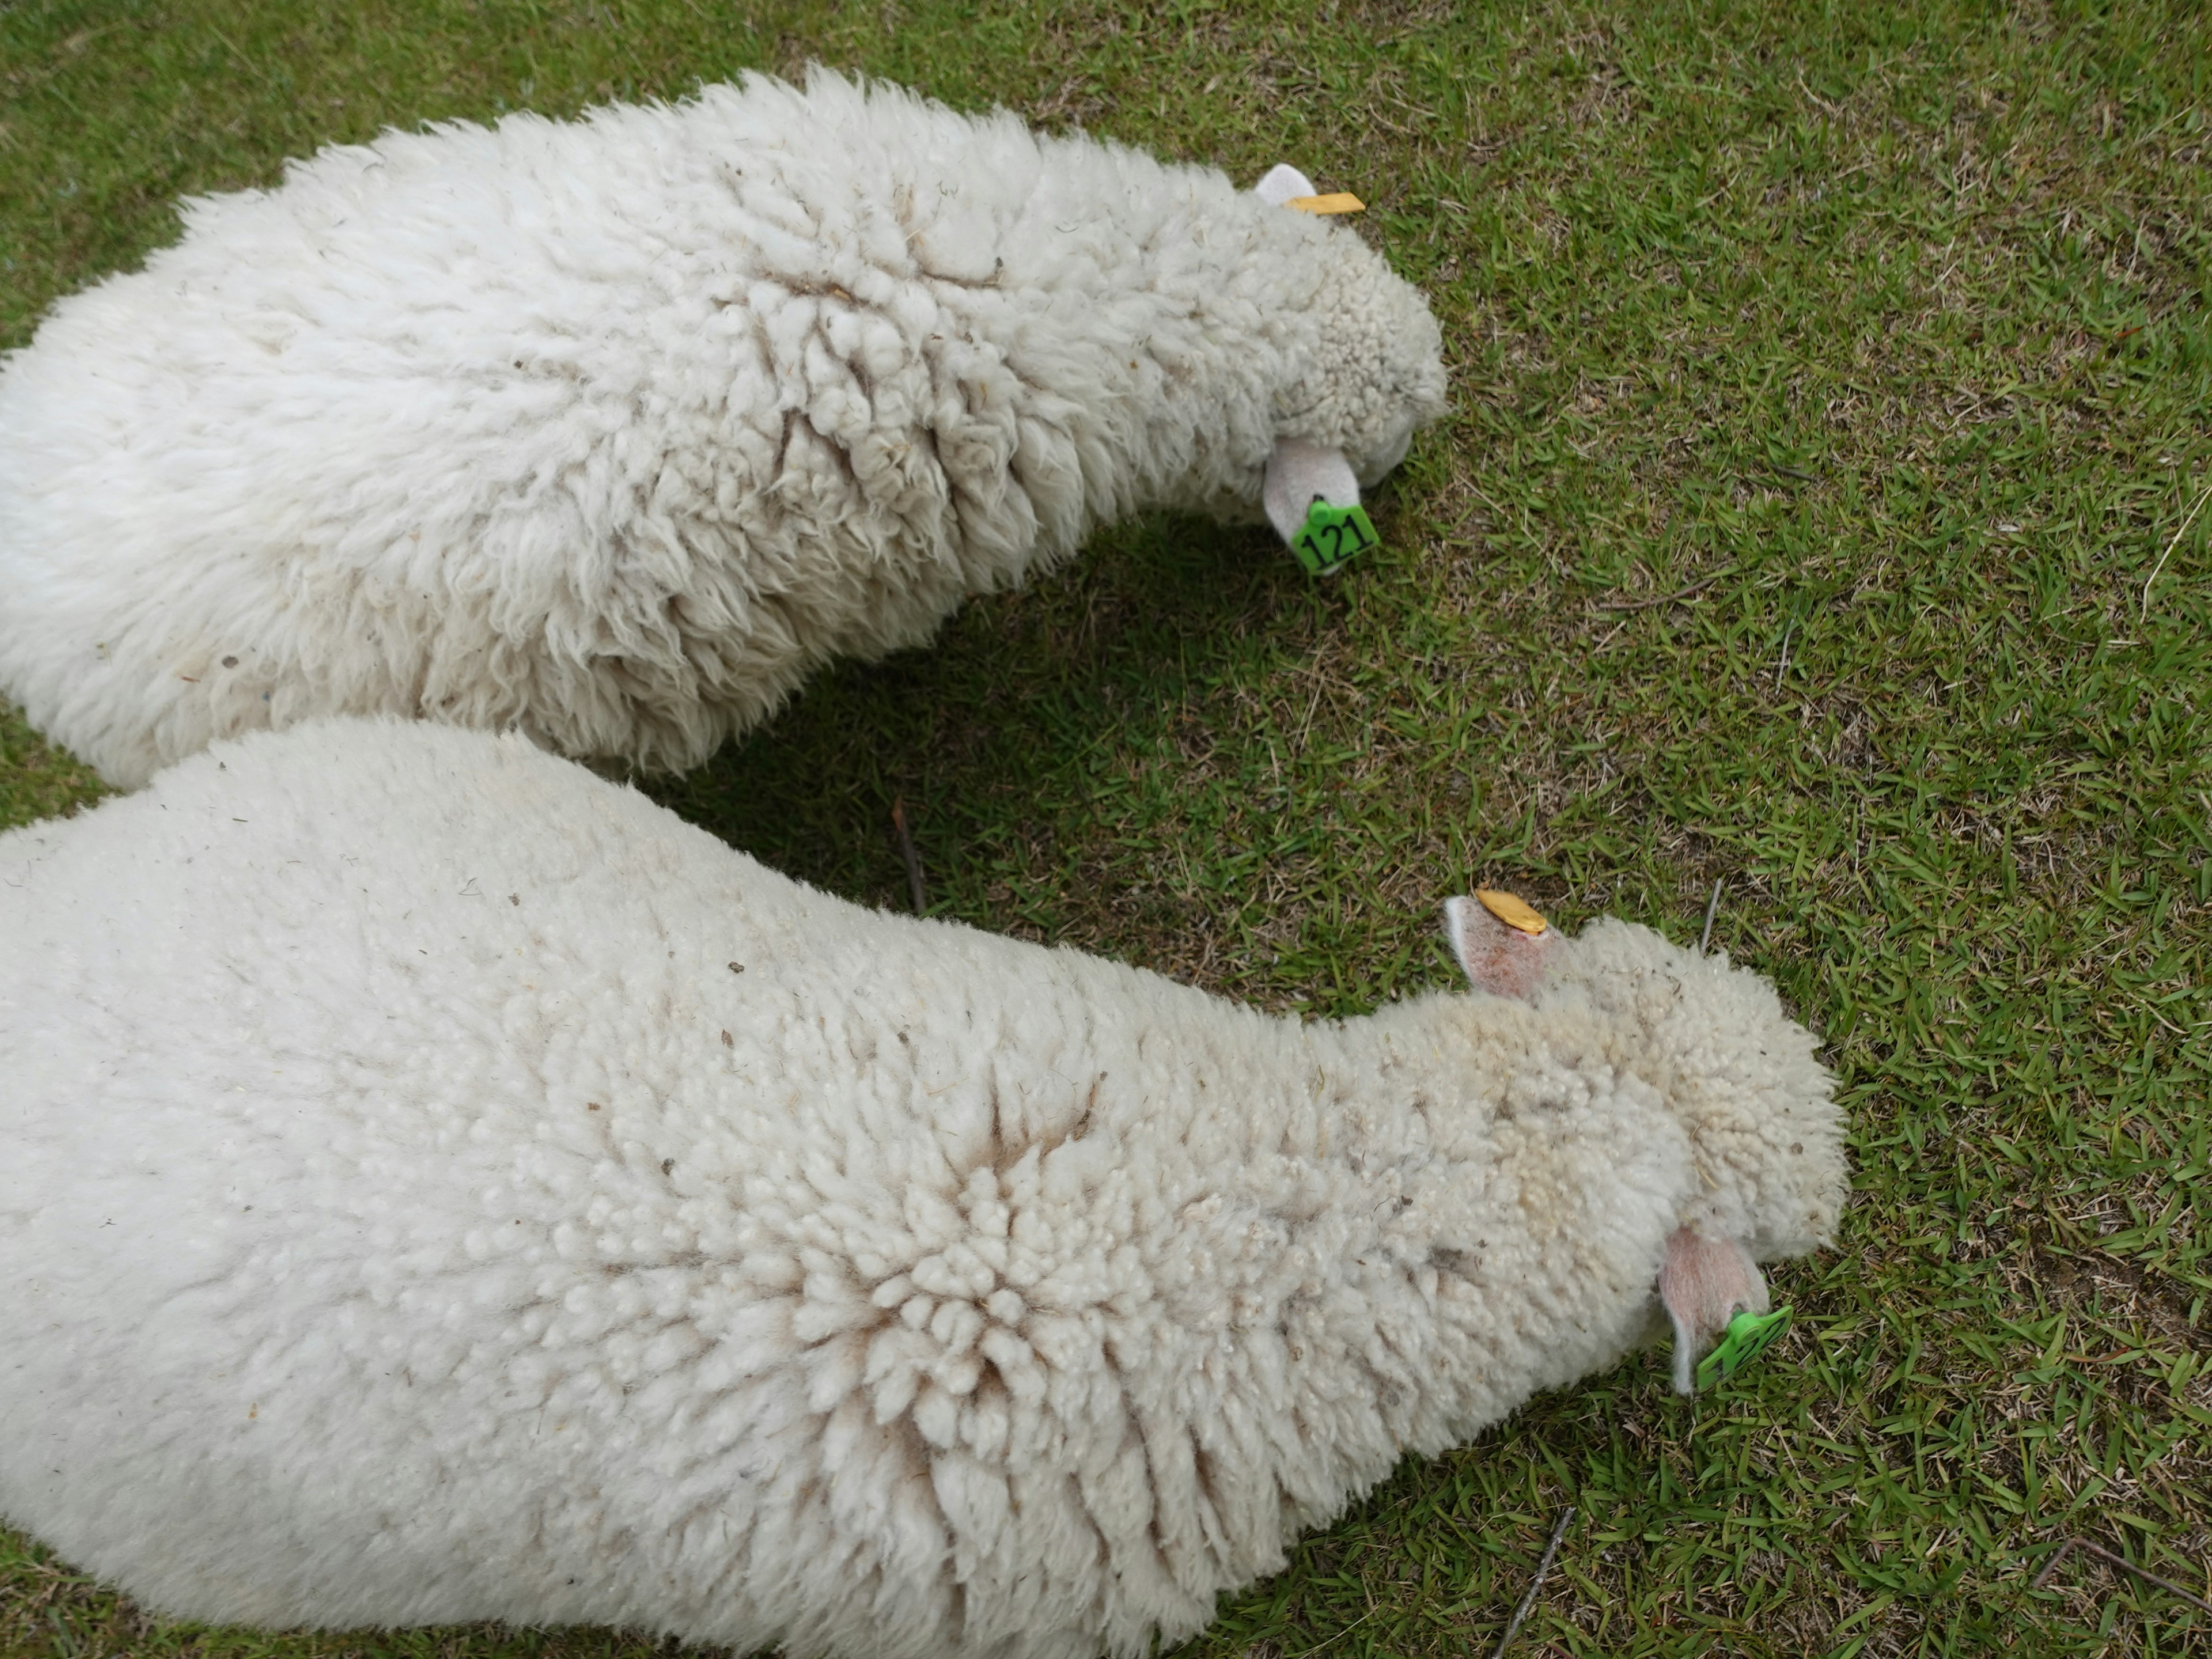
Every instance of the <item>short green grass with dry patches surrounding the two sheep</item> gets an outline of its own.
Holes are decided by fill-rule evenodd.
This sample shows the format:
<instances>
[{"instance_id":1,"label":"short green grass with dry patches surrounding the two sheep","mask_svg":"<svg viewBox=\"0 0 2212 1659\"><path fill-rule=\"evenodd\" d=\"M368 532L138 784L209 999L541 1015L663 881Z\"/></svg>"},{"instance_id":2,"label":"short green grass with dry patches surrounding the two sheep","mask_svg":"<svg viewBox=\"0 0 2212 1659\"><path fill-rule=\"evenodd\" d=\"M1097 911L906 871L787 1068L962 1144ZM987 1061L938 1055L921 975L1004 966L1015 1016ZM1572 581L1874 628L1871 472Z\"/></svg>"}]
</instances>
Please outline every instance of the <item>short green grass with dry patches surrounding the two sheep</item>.
<instances>
[{"instance_id":1,"label":"short green grass with dry patches surrounding the two sheep","mask_svg":"<svg viewBox=\"0 0 2212 1659\"><path fill-rule=\"evenodd\" d=\"M768 863L1347 1013L1509 885L1772 973L1858 1161L1801 1321L1400 1473L1192 1659L2183 1655L2212 1619L2212 13L279 0L0 11L0 338L177 192L385 124L812 55L1292 157L1444 321L1453 418L1316 586L1152 520L818 681L659 799ZM1670 595L1672 604L1619 608ZM0 821L93 796L0 723ZM0 1263L4 1267L4 1263ZM4 1425L0 1425L4 1431ZM4 1655L644 1655L146 1619L0 1535Z\"/></svg>"}]
</instances>

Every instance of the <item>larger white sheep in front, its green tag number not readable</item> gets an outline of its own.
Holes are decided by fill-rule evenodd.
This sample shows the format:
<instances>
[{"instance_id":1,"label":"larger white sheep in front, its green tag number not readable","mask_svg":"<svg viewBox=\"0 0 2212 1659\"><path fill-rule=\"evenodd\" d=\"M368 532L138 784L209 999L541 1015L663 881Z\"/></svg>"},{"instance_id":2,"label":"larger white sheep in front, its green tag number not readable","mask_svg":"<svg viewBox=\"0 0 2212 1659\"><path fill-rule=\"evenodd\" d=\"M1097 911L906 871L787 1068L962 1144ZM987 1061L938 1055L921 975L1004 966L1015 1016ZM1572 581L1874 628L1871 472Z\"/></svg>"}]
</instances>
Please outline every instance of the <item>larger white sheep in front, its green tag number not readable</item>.
<instances>
[{"instance_id":1,"label":"larger white sheep in front, its green tag number not readable","mask_svg":"<svg viewBox=\"0 0 2212 1659\"><path fill-rule=\"evenodd\" d=\"M1493 993L1298 1022L518 737L217 745L0 836L0 1515L212 1621L1144 1655L1836 1223L1763 980L1449 916Z\"/></svg>"}]
</instances>

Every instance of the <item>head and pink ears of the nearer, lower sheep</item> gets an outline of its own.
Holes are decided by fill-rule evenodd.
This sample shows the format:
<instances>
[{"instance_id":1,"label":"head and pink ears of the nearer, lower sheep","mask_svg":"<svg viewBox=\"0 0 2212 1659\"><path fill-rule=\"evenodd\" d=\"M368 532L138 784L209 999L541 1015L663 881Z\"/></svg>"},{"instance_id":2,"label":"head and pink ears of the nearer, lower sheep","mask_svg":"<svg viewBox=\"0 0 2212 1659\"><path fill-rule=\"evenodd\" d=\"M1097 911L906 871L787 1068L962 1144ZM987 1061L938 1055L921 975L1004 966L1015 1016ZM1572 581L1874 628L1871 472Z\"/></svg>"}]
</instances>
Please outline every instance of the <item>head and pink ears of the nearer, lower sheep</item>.
<instances>
[{"instance_id":1,"label":"head and pink ears of the nearer, lower sheep","mask_svg":"<svg viewBox=\"0 0 2212 1659\"><path fill-rule=\"evenodd\" d=\"M1509 907L1502 907L1509 909ZM1652 1084L1690 1135L1697 1188L1668 1241L1657 1292L1674 1323L1674 1380L1734 1312L1767 1310L1761 1261L1832 1241L1849 1186L1834 1077L1814 1035L1761 975L1648 927L1599 918L1564 938L1453 898L1444 933L1480 991L1606 1015L1613 1062Z\"/></svg>"}]
</instances>

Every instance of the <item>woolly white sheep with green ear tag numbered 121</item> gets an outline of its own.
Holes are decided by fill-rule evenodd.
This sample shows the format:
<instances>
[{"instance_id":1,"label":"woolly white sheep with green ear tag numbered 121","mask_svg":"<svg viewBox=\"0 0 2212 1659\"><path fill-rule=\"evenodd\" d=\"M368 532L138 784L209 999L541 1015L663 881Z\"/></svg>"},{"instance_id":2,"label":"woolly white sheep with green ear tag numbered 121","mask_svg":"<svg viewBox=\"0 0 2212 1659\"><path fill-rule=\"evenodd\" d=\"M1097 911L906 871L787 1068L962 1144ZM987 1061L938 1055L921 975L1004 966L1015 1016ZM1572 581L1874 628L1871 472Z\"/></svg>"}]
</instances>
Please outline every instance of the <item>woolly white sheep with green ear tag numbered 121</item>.
<instances>
[{"instance_id":1,"label":"woolly white sheep with green ear tag numbered 121","mask_svg":"<svg viewBox=\"0 0 2212 1659\"><path fill-rule=\"evenodd\" d=\"M688 768L1108 520L1287 538L1444 372L1265 184L816 73L190 201L0 374L0 690L124 787L314 714Z\"/></svg>"}]
</instances>

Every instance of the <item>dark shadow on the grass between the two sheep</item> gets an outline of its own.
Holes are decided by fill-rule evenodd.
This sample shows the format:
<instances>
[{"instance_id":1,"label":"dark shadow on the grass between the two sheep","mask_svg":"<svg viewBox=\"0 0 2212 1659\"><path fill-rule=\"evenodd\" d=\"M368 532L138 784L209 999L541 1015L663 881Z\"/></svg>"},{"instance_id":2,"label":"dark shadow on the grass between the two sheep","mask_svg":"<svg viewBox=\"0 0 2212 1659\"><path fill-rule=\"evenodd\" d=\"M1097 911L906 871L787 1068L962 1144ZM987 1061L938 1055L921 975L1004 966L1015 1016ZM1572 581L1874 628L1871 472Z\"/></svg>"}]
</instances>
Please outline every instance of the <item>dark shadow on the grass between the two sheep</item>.
<instances>
[{"instance_id":1,"label":"dark shadow on the grass between the two sheep","mask_svg":"<svg viewBox=\"0 0 2212 1659\"><path fill-rule=\"evenodd\" d=\"M973 852L1033 830L1126 743L1155 752L1192 688L1312 637L1338 591L1263 531L1126 524L1022 593L969 602L929 648L832 666L708 765L637 783L776 869L896 907L905 801L931 909L973 916Z\"/></svg>"}]
</instances>

